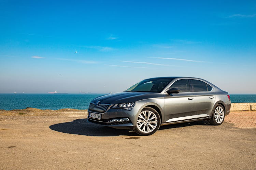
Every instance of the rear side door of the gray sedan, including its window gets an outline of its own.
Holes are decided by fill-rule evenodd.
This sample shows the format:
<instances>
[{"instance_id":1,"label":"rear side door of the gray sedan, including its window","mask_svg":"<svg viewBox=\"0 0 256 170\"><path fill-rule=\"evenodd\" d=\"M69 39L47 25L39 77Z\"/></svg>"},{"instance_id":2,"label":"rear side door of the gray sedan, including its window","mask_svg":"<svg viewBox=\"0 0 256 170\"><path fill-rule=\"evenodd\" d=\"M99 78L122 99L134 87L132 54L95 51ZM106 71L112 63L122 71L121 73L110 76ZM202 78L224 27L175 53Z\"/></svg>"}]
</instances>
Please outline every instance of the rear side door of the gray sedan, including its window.
<instances>
[{"instance_id":1,"label":"rear side door of the gray sedan, including its window","mask_svg":"<svg viewBox=\"0 0 256 170\"><path fill-rule=\"evenodd\" d=\"M198 118L211 116L216 97L214 88L201 80L190 79L189 81L194 94L195 115Z\"/></svg>"}]
</instances>

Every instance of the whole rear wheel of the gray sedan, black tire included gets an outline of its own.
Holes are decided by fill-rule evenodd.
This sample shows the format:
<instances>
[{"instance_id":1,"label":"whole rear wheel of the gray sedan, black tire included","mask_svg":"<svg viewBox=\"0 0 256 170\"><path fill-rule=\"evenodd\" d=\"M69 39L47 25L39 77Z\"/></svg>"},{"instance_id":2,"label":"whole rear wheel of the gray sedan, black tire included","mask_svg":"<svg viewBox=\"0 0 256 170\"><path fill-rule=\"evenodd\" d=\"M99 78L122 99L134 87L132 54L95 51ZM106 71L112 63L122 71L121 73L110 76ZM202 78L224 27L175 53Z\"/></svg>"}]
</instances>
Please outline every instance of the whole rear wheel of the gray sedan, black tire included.
<instances>
[{"instance_id":1,"label":"whole rear wheel of the gray sedan, black tire included","mask_svg":"<svg viewBox=\"0 0 256 170\"><path fill-rule=\"evenodd\" d=\"M224 107L221 104L218 104L213 110L210 124L221 125L224 122L224 118L225 118Z\"/></svg>"}]
</instances>

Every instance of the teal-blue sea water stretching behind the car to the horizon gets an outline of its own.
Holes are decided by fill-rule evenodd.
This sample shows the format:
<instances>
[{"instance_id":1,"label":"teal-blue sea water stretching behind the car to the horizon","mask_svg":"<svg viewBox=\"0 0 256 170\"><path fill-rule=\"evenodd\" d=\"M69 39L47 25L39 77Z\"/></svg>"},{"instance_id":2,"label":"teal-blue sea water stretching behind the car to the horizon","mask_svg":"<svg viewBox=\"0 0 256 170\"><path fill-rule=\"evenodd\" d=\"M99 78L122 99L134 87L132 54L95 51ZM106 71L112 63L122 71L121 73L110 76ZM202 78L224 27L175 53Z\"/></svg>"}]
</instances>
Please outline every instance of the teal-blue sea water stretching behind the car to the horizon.
<instances>
[{"instance_id":1,"label":"teal-blue sea water stretching behind the car to the horizon","mask_svg":"<svg viewBox=\"0 0 256 170\"><path fill-rule=\"evenodd\" d=\"M102 95L104 94L0 94L0 109L88 109L91 100ZM256 102L256 94L231 94L230 99L232 103L253 103Z\"/></svg>"}]
</instances>

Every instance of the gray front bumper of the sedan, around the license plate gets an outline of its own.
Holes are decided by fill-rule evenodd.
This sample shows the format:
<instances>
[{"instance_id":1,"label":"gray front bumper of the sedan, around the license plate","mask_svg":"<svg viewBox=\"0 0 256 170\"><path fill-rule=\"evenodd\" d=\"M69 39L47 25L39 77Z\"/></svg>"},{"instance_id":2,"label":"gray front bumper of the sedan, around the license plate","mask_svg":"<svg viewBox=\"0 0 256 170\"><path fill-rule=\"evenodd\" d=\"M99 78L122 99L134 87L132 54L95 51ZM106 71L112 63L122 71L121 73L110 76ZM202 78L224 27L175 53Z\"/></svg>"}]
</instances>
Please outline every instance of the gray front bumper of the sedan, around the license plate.
<instances>
[{"instance_id":1,"label":"gray front bumper of the sedan, around the license plate","mask_svg":"<svg viewBox=\"0 0 256 170\"><path fill-rule=\"evenodd\" d=\"M104 126L108 126L111 128L116 129L129 129L134 130L137 124L137 114L139 112L140 108L132 108L131 111L127 111L125 109L109 109L105 113L97 113L101 114L101 119L94 119L89 117L90 110L88 110L88 122L101 124ZM91 112L95 113L95 112ZM128 118L129 121L123 121L123 122L109 122L113 119L120 119L120 118Z\"/></svg>"}]
</instances>

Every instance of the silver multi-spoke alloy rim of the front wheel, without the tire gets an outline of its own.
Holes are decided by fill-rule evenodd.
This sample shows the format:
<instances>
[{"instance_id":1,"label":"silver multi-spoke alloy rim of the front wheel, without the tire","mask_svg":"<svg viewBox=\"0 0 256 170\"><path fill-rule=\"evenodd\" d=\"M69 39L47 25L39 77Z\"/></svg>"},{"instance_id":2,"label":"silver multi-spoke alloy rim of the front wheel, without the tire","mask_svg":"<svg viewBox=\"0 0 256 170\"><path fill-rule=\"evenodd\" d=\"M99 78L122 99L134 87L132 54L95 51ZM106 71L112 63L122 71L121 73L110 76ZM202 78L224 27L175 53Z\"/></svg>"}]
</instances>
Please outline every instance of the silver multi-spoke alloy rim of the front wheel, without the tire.
<instances>
[{"instance_id":1,"label":"silver multi-spoke alloy rim of the front wheel, without the tire","mask_svg":"<svg viewBox=\"0 0 256 170\"><path fill-rule=\"evenodd\" d=\"M143 133L150 133L156 129L157 117L151 111L142 111L137 120L137 128Z\"/></svg>"}]
</instances>

